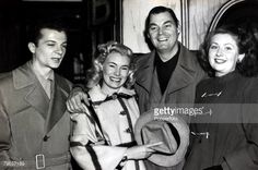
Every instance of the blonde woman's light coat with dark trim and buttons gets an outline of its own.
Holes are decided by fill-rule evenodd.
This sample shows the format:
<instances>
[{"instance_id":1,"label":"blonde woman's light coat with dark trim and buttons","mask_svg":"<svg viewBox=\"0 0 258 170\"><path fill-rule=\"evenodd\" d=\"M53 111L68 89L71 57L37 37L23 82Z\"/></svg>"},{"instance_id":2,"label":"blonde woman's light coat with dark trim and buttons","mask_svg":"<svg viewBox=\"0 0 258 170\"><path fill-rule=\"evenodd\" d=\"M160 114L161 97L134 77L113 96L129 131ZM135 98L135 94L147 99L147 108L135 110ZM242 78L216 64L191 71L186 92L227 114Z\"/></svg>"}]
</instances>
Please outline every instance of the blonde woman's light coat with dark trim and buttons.
<instances>
[{"instance_id":1,"label":"blonde woman's light coat with dark trim and buttons","mask_svg":"<svg viewBox=\"0 0 258 170\"><path fill-rule=\"evenodd\" d=\"M86 147L80 145L71 147L73 157L83 169L116 169L125 158L127 150L125 146L134 141L133 126L139 118L139 109L134 99L136 93L125 87L119 88L117 94L120 93L129 98L119 99L114 95L113 99L106 100L107 95L102 92L101 86L94 86L89 92L92 110L71 116L75 122L71 141L86 145ZM99 121L98 125L95 123L96 120ZM99 143L102 138L106 141L107 145ZM99 168L96 162L99 163ZM145 167L141 160L127 160L120 170L145 170Z\"/></svg>"}]
</instances>

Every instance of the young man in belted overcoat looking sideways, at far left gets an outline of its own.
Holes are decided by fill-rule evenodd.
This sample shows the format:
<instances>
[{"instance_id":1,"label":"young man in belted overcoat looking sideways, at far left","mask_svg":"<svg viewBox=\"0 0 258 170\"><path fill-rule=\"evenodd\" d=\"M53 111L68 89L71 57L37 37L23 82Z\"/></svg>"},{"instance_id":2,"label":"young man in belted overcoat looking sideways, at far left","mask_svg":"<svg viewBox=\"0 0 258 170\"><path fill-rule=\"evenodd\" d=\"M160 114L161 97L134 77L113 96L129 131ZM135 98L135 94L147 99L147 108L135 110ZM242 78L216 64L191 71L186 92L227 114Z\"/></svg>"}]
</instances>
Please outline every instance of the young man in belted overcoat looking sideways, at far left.
<instances>
[{"instance_id":1,"label":"young man in belted overcoat looking sideways, at far left","mask_svg":"<svg viewBox=\"0 0 258 170\"><path fill-rule=\"evenodd\" d=\"M30 34L32 60L0 78L0 169L71 169L71 83L54 72L67 50L67 32L42 22Z\"/></svg>"}]
</instances>

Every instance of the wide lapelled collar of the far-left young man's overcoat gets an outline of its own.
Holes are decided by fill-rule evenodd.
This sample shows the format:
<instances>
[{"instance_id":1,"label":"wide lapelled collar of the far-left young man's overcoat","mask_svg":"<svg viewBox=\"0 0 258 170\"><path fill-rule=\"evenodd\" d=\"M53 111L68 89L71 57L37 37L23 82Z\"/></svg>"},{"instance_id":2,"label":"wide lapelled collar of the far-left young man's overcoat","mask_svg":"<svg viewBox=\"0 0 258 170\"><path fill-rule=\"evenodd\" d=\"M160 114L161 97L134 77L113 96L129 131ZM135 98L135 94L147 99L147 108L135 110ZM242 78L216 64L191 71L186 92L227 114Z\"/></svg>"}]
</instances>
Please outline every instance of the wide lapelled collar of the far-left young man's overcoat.
<instances>
[{"instance_id":1,"label":"wide lapelled collar of the far-left young man's overcoat","mask_svg":"<svg viewBox=\"0 0 258 170\"><path fill-rule=\"evenodd\" d=\"M46 131L49 132L66 111L66 100L69 95L69 88L57 74L54 75L54 92L49 101L39 81L32 71L30 63L13 71L14 88L23 92L24 100L35 108L46 120Z\"/></svg>"}]
</instances>

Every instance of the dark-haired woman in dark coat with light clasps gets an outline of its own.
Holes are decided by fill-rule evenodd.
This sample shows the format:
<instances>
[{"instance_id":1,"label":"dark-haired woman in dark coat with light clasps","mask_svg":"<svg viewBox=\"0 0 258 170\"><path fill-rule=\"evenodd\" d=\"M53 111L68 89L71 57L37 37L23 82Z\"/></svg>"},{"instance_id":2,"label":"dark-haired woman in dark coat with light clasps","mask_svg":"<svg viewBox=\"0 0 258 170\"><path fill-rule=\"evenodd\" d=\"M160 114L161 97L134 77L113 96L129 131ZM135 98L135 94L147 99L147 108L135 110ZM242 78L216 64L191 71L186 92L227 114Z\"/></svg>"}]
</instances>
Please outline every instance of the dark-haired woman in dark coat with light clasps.
<instances>
[{"instance_id":1,"label":"dark-haired woman in dark coat with light clasps","mask_svg":"<svg viewBox=\"0 0 258 170\"><path fill-rule=\"evenodd\" d=\"M208 34L200 62L210 78L197 86L185 170L258 169L256 42L250 32L224 26Z\"/></svg>"}]
</instances>

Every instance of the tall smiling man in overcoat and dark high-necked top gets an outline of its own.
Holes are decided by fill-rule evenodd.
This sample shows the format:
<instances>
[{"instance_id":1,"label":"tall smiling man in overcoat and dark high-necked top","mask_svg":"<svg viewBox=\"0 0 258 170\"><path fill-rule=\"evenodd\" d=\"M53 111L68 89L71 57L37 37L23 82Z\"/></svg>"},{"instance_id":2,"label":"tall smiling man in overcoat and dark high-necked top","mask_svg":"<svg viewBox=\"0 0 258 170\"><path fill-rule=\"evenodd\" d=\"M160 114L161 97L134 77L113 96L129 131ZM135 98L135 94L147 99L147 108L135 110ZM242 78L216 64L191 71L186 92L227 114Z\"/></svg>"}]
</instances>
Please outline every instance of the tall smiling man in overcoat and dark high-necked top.
<instances>
[{"instance_id":1,"label":"tall smiling man in overcoat and dark high-necked top","mask_svg":"<svg viewBox=\"0 0 258 170\"><path fill-rule=\"evenodd\" d=\"M145 21L145 36L153 50L139 57L136 72L136 92L141 113L155 107L176 104L191 105L196 85L204 77L197 57L178 41L179 22L169 8L153 8ZM189 117L184 117L189 123ZM148 170L178 170L146 163Z\"/></svg>"}]
</instances>

